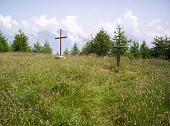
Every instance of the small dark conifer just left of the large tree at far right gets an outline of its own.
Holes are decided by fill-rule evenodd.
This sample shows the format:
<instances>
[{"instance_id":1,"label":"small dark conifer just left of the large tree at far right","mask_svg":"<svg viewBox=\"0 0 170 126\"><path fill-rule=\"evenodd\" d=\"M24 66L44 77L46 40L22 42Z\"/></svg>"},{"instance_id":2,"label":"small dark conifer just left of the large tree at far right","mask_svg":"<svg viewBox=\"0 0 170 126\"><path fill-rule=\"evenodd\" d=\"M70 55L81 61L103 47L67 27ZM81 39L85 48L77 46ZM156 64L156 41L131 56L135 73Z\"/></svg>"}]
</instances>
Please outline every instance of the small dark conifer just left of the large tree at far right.
<instances>
[{"instance_id":1,"label":"small dark conifer just left of the large tree at far right","mask_svg":"<svg viewBox=\"0 0 170 126\"><path fill-rule=\"evenodd\" d=\"M140 46L140 55L141 55L141 58L143 58L143 59L150 57L150 50L149 50L148 46L146 45L145 41L143 41L143 43Z\"/></svg>"}]
</instances>

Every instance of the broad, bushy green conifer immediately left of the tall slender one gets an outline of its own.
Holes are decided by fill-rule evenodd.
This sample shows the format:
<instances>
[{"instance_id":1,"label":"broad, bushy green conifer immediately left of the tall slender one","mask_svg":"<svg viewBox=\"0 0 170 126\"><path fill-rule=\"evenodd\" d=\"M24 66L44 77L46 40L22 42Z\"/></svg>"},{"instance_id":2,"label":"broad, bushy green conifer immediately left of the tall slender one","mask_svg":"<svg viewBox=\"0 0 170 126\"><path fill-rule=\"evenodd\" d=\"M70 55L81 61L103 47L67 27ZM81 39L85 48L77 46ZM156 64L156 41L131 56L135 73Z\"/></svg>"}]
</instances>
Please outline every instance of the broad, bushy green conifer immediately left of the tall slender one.
<instances>
[{"instance_id":1,"label":"broad, bushy green conifer immediately left of the tall slender one","mask_svg":"<svg viewBox=\"0 0 170 126\"><path fill-rule=\"evenodd\" d=\"M111 48L111 40L110 36L107 34L104 29L101 29L94 38L94 43L89 46L93 47L94 53L97 56L105 56L108 55Z\"/></svg>"}]
</instances>

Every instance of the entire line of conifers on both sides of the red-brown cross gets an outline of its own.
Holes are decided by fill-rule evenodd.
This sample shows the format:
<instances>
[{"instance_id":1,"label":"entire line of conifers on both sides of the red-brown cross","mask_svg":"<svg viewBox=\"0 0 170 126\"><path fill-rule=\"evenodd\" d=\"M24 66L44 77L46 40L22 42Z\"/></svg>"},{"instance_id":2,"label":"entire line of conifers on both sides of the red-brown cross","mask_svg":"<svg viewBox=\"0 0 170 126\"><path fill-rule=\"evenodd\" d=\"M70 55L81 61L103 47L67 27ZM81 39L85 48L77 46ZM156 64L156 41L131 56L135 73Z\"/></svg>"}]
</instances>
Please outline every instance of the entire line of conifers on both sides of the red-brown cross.
<instances>
[{"instance_id":1,"label":"entire line of conifers on both sides of the red-brown cross","mask_svg":"<svg viewBox=\"0 0 170 126\"><path fill-rule=\"evenodd\" d=\"M145 41L141 44L135 39L128 39L125 35L123 27L118 25L114 31L113 37L102 28L99 32L91 37L91 40L86 42L81 51L76 43L74 43L71 51L66 49L64 55L89 55L95 54L97 56L114 56L116 54L116 46L124 46L121 48L120 54L128 56L129 58L162 58L170 59L170 37L156 36L153 39L152 47L148 47ZM7 39L0 33L0 52L20 51L20 52L35 52L35 53L52 53L49 43L46 41L43 46L37 41L33 48L28 44L28 37L19 30L15 35L14 41L11 45L8 44Z\"/></svg>"}]
</instances>

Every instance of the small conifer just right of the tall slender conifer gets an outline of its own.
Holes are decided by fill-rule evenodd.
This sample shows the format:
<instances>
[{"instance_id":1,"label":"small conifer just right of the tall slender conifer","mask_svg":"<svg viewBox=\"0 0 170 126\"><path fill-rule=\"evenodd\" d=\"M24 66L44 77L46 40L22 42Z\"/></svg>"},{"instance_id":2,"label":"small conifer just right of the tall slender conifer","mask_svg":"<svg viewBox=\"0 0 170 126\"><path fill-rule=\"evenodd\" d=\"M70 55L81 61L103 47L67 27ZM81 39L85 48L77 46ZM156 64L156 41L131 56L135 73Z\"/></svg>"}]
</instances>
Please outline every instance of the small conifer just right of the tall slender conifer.
<instances>
[{"instance_id":1,"label":"small conifer just right of the tall slender conifer","mask_svg":"<svg viewBox=\"0 0 170 126\"><path fill-rule=\"evenodd\" d=\"M135 40L130 40L132 42L132 46L130 47L130 52L134 58L140 57L139 51L139 43Z\"/></svg>"}]
</instances>

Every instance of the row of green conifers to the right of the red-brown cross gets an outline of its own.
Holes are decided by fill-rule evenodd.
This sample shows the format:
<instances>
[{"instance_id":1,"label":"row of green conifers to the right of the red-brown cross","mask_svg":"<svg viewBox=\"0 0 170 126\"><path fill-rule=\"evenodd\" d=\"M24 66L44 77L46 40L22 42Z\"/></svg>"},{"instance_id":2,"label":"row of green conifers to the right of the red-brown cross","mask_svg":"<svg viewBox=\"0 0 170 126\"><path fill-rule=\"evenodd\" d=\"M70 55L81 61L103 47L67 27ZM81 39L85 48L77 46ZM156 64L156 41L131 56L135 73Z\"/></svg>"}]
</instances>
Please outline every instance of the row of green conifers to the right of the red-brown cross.
<instances>
[{"instance_id":1,"label":"row of green conifers to the right of the red-brown cross","mask_svg":"<svg viewBox=\"0 0 170 126\"><path fill-rule=\"evenodd\" d=\"M74 45L75 55L89 55L95 54L97 56L114 56L116 54L116 46L124 46L120 49L120 54L128 56L129 58L161 58L170 59L170 37L156 36L153 39L152 47L143 41L141 44L135 39L128 39L125 35L123 27L118 25L111 38L108 33L102 28L95 37L88 41L81 52L76 43ZM73 50L73 49L72 49ZM73 51L70 52L70 54ZM69 55L68 50L65 50L65 55Z\"/></svg>"}]
</instances>

